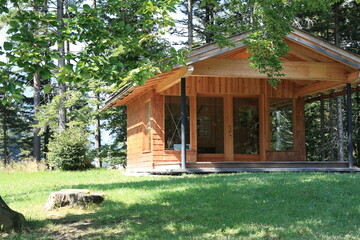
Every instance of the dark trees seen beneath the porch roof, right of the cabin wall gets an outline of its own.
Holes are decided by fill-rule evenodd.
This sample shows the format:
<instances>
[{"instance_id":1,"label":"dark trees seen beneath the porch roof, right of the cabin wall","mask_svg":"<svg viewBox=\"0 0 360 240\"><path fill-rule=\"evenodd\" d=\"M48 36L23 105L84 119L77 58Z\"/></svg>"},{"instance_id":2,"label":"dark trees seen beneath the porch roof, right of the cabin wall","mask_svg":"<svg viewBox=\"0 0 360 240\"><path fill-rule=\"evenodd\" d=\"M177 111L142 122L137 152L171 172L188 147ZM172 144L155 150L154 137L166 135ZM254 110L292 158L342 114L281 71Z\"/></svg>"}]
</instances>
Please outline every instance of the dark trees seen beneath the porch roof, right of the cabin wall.
<instances>
[{"instance_id":1,"label":"dark trees seen beneath the porch roof, right of the cabin wall","mask_svg":"<svg viewBox=\"0 0 360 240\"><path fill-rule=\"evenodd\" d=\"M345 161L348 156L348 132L346 116L346 96L340 96L342 101L342 123L343 123L343 151ZM340 141L338 135L338 99L329 98L323 100L323 124L321 121L320 101L305 105L306 126L306 151L307 159L310 161L334 161L339 159ZM352 94L353 110L353 144L354 164L360 166L360 93Z\"/></svg>"}]
</instances>

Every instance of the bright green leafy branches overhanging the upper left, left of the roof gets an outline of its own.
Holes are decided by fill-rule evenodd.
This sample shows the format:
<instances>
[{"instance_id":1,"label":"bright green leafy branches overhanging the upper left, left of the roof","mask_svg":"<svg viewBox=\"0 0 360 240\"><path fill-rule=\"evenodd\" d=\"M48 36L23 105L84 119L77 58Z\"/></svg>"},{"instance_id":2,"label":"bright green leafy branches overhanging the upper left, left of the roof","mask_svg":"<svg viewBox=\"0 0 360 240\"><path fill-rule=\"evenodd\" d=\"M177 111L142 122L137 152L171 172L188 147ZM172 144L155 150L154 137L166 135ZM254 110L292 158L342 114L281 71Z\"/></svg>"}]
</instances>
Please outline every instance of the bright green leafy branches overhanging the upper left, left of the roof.
<instances>
[{"instance_id":1,"label":"bright green leafy branches overhanging the upper left, left of the roof","mask_svg":"<svg viewBox=\"0 0 360 240\"><path fill-rule=\"evenodd\" d=\"M58 83L96 79L104 81L105 86L119 86L125 81L142 84L183 62L183 51L161 39L173 25L170 13L175 12L177 0L104 0L96 8L82 3L70 4L60 22L56 5L48 1L0 2L0 12L6 15L9 26L9 40L0 54L5 54L9 65L28 80L40 73L42 79L56 79ZM9 13L9 9L15 11ZM58 68L54 63L61 54L55 46L64 43L84 47L66 53L66 64ZM13 93L14 88L3 92ZM5 99L12 97L5 95Z\"/></svg>"}]
</instances>

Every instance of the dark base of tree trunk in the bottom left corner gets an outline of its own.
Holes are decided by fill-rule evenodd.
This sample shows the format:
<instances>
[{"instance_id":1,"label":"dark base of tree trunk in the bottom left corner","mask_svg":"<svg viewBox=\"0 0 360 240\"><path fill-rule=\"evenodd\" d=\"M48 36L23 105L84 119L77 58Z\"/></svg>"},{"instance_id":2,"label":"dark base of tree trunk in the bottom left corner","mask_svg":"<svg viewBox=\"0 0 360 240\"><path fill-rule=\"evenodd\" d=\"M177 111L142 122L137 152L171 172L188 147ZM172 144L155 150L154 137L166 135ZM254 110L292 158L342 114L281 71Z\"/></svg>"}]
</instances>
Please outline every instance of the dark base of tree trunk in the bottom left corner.
<instances>
[{"instance_id":1,"label":"dark base of tree trunk in the bottom left corner","mask_svg":"<svg viewBox=\"0 0 360 240\"><path fill-rule=\"evenodd\" d=\"M0 196L0 232L9 230L26 230L26 220L24 215L9 208Z\"/></svg>"}]
</instances>

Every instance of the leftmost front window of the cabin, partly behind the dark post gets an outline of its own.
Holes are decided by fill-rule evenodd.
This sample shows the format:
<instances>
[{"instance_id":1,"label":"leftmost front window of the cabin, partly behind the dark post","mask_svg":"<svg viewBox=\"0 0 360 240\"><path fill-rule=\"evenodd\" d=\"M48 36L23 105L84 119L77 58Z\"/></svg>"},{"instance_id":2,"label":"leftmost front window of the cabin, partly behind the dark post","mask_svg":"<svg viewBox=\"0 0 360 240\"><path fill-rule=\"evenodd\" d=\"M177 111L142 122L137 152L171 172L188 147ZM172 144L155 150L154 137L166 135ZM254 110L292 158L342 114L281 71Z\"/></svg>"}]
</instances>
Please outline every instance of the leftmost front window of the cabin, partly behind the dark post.
<instances>
[{"instance_id":1,"label":"leftmost front window of the cabin, partly behind the dark post","mask_svg":"<svg viewBox=\"0 0 360 240\"><path fill-rule=\"evenodd\" d=\"M190 148L189 98L186 98L186 132L187 149ZM165 96L165 150L181 150L181 97Z\"/></svg>"}]
</instances>

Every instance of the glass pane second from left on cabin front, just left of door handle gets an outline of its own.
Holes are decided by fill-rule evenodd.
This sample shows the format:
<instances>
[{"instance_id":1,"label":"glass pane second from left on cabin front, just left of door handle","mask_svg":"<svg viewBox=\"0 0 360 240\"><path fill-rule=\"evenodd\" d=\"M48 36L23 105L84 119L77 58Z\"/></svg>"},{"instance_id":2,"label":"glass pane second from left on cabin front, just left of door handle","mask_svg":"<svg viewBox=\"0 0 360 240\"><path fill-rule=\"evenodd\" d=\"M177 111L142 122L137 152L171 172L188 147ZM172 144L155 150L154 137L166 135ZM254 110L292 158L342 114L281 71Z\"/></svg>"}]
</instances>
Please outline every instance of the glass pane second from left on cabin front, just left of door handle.
<instances>
[{"instance_id":1,"label":"glass pane second from left on cabin front, just left of door handle","mask_svg":"<svg viewBox=\"0 0 360 240\"><path fill-rule=\"evenodd\" d=\"M197 98L198 153L224 153L224 100Z\"/></svg>"}]
</instances>

